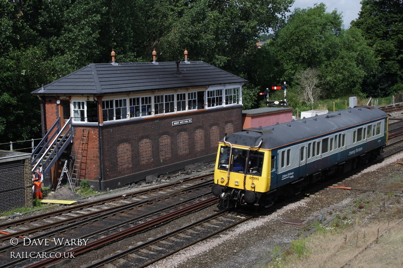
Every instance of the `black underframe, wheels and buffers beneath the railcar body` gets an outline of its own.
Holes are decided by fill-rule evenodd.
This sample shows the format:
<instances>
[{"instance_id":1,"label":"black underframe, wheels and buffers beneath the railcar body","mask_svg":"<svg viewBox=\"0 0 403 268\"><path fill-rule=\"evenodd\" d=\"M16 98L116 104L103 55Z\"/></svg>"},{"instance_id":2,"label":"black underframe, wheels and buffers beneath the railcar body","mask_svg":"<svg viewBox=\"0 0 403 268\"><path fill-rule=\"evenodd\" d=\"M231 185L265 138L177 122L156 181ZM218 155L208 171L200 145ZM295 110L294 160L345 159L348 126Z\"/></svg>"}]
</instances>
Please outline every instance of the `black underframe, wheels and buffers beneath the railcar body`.
<instances>
[{"instance_id":1,"label":"black underframe, wheels and buffers beneath the railcar body","mask_svg":"<svg viewBox=\"0 0 403 268\"><path fill-rule=\"evenodd\" d=\"M343 175L353 169L356 169L358 166L362 166L363 164L376 160L381 151L382 148L378 148L365 154L361 154L355 158L332 165L313 174L299 177L298 180L292 183L278 187L266 193L223 187L217 184L213 185L212 192L213 195L220 198L220 205L224 208L228 208L229 206L236 207L238 205L270 207L277 200L287 199L288 197L300 194L301 191L308 185L321 181L324 178Z\"/></svg>"}]
</instances>

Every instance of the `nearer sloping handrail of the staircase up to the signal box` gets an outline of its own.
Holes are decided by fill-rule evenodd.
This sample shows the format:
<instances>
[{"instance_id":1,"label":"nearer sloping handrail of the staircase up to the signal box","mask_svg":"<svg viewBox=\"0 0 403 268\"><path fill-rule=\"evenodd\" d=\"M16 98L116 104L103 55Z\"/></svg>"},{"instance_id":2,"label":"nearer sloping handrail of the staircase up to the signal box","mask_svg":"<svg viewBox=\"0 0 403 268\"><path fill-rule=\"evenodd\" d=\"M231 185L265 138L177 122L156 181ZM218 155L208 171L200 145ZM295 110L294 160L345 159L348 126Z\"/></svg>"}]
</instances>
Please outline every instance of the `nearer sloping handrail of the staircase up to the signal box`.
<instances>
[{"instance_id":1,"label":"nearer sloping handrail of the staircase up to the signal box","mask_svg":"<svg viewBox=\"0 0 403 268\"><path fill-rule=\"evenodd\" d=\"M34 171L40 164L42 165L42 175L45 176L47 174L48 170L48 163L52 161L52 156L58 155L58 150L59 150L59 145L63 144L66 139L72 139L71 135L69 135L72 132L72 118L69 119L69 121L66 122L66 124L63 126L63 128L57 133L56 137L52 140L51 143L49 143L49 146L47 147L46 151L42 154L40 159L35 163L34 167L32 168L32 171ZM58 138L62 135L63 138L58 141ZM47 159L43 161L43 158L49 153L51 148L54 145L54 150L48 155Z\"/></svg>"}]
</instances>

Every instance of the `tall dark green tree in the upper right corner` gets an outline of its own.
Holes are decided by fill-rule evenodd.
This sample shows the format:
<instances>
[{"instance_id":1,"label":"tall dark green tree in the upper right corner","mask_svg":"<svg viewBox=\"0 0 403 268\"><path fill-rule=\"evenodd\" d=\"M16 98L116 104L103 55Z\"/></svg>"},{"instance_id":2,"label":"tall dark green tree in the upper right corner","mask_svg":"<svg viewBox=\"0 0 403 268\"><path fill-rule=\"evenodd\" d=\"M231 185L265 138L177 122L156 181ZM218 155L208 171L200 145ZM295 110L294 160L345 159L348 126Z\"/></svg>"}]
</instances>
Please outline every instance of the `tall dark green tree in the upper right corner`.
<instances>
[{"instance_id":1,"label":"tall dark green tree in the upper right corner","mask_svg":"<svg viewBox=\"0 0 403 268\"><path fill-rule=\"evenodd\" d=\"M352 26L363 32L379 59L379 67L365 83L370 95L387 96L403 81L403 3L401 0L363 0Z\"/></svg>"}]
</instances>

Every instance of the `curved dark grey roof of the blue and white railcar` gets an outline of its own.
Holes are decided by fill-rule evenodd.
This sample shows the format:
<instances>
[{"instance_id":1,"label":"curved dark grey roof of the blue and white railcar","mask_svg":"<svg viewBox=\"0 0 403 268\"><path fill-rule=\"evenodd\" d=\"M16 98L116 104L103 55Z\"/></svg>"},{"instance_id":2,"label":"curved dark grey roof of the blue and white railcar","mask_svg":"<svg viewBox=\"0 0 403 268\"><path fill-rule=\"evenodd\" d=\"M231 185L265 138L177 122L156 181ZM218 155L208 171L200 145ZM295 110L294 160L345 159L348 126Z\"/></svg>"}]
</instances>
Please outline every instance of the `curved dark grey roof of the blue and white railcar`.
<instances>
[{"instance_id":1,"label":"curved dark grey roof of the blue and white railcar","mask_svg":"<svg viewBox=\"0 0 403 268\"><path fill-rule=\"evenodd\" d=\"M370 123L387 116L385 112L378 108L359 106L273 126L244 129L241 132L228 135L226 141L233 145L250 147L257 146L260 139L262 139L260 148L274 149L360 124ZM221 140L221 142L223 141Z\"/></svg>"}]
</instances>

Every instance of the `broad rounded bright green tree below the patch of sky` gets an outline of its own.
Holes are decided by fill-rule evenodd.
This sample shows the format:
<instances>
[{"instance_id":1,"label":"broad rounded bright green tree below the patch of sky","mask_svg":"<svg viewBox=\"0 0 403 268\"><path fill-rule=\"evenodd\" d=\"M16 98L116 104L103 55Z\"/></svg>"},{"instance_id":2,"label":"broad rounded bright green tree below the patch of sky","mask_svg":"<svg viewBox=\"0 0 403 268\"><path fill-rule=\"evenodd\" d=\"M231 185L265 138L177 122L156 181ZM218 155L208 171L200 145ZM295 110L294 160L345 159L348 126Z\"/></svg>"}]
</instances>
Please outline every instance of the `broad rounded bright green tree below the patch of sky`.
<instances>
[{"instance_id":1,"label":"broad rounded bright green tree below the patch of sky","mask_svg":"<svg viewBox=\"0 0 403 268\"><path fill-rule=\"evenodd\" d=\"M360 31L344 30L342 23L324 4L296 9L269 43L282 69L279 81L292 85L297 73L315 68L325 96L359 92L376 61Z\"/></svg>"}]
</instances>

